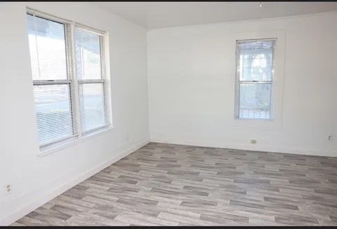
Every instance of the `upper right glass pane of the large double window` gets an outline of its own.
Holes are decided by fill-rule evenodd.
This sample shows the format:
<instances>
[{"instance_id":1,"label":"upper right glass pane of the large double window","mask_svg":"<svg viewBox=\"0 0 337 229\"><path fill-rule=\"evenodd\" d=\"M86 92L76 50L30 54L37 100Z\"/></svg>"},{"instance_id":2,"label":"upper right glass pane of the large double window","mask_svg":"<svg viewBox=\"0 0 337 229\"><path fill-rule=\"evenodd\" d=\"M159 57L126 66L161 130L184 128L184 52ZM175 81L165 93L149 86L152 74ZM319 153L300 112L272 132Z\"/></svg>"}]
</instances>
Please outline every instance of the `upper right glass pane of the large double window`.
<instances>
[{"instance_id":1,"label":"upper right glass pane of the large double window","mask_svg":"<svg viewBox=\"0 0 337 229\"><path fill-rule=\"evenodd\" d=\"M79 79L100 79L100 35L75 28L76 73Z\"/></svg>"}]
</instances>

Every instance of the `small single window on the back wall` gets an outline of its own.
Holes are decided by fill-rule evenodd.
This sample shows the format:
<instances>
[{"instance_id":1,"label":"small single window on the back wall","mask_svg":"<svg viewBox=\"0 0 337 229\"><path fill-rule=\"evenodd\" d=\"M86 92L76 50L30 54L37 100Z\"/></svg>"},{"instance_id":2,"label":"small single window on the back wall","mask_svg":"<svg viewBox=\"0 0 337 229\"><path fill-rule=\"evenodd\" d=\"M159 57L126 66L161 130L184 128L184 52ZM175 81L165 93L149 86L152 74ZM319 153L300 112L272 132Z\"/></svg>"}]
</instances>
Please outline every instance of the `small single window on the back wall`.
<instances>
[{"instance_id":1,"label":"small single window on the back wall","mask_svg":"<svg viewBox=\"0 0 337 229\"><path fill-rule=\"evenodd\" d=\"M237 41L236 118L272 119L275 39Z\"/></svg>"}]
</instances>

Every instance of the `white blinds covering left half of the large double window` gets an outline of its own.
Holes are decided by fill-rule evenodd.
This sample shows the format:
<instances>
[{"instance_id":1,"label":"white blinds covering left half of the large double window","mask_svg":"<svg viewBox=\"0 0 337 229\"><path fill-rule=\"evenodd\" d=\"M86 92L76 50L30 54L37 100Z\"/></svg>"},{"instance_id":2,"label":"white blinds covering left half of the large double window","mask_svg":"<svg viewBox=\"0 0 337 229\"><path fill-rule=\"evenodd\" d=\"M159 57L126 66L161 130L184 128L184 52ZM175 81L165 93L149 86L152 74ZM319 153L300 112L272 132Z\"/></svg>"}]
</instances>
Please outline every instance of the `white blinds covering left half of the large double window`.
<instances>
[{"instance_id":1,"label":"white blinds covering left half of the large double window","mask_svg":"<svg viewBox=\"0 0 337 229\"><path fill-rule=\"evenodd\" d=\"M46 146L77 134L67 25L29 14L27 21L39 143Z\"/></svg>"}]
</instances>

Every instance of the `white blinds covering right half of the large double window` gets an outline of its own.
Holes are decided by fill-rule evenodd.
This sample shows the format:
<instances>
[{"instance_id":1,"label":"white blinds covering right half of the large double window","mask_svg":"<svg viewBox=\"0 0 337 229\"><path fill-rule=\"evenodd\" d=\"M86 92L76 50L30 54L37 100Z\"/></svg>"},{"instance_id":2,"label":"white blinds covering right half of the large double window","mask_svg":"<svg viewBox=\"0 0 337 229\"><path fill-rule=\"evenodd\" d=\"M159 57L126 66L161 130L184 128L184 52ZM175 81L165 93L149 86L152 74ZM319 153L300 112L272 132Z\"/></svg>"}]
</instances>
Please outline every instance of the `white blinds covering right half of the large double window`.
<instances>
[{"instance_id":1,"label":"white blinds covering right half of the large double window","mask_svg":"<svg viewBox=\"0 0 337 229\"><path fill-rule=\"evenodd\" d=\"M76 27L74 40L81 129L86 133L107 126L103 37Z\"/></svg>"}]
</instances>

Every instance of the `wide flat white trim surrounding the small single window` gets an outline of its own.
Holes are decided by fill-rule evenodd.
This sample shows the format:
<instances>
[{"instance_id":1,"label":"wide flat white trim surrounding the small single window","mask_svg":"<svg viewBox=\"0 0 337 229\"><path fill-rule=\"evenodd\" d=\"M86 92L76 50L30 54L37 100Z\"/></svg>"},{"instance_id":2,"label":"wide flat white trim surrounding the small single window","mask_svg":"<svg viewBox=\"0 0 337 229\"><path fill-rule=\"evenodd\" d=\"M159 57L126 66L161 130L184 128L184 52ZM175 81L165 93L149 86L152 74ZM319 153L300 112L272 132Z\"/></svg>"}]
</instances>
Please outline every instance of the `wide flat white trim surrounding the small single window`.
<instances>
[{"instance_id":1,"label":"wide flat white trim surrounding the small single window","mask_svg":"<svg viewBox=\"0 0 337 229\"><path fill-rule=\"evenodd\" d=\"M272 78L272 97L271 97L271 112L270 118L238 118L237 109L238 103L238 79L237 79L237 41L246 40L262 40L276 39L274 49L274 73ZM283 90L284 90L284 56L285 56L285 41L286 32L269 31L269 32L239 32L232 36L232 85L233 93L233 118L230 121L232 128L254 129L254 130L279 130L282 128L282 106L283 106Z\"/></svg>"}]
</instances>

